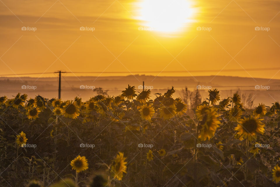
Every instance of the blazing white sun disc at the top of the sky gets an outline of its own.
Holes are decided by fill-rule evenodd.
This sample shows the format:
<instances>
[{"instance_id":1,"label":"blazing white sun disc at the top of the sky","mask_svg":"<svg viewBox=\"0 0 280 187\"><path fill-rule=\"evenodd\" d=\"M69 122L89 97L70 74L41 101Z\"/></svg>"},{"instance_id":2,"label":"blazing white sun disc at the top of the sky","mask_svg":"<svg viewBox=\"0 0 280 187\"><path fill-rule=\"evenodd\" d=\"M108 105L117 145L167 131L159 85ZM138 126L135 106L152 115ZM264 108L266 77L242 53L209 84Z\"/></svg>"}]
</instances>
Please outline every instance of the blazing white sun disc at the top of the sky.
<instances>
[{"instance_id":1,"label":"blazing white sun disc at the top of the sky","mask_svg":"<svg viewBox=\"0 0 280 187\"><path fill-rule=\"evenodd\" d=\"M187 0L141 0L138 6L142 29L150 31L180 32L192 22L195 13Z\"/></svg>"}]
</instances>

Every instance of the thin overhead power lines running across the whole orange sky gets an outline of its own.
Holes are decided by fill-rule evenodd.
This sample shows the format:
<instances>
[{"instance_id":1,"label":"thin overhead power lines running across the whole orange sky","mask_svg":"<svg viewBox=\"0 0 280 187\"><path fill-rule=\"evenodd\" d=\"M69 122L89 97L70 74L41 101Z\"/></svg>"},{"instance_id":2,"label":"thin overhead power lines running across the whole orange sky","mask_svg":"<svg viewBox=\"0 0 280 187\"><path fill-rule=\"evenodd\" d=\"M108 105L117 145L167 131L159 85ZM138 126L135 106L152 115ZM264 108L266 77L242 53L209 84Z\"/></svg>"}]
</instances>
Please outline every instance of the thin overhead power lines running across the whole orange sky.
<instances>
[{"instance_id":1,"label":"thin overhead power lines running across the whole orange sky","mask_svg":"<svg viewBox=\"0 0 280 187\"><path fill-rule=\"evenodd\" d=\"M280 70L280 67L272 67L272 68L248 68L248 69L227 69L227 70L185 70L185 71L132 71L132 72L117 72L117 71L111 71L111 72L63 72L63 73L77 73L77 74L98 74L98 73L202 73L202 72L239 72L239 71L265 71L265 70ZM42 72L42 73L19 73L19 74L2 74L2 76L17 76L17 75L43 75L43 74L54 74L56 72Z\"/></svg>"}]
</instances>

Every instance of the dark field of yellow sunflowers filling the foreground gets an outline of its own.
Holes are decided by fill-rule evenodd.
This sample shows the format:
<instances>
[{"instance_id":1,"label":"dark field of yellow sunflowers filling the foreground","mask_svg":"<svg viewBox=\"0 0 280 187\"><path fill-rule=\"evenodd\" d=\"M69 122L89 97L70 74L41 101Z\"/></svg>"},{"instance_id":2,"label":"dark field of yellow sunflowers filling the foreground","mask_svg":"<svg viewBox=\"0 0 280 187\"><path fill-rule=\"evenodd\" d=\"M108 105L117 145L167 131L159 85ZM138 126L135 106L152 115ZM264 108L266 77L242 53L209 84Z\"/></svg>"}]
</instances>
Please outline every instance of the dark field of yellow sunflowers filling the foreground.
<instances>
[{"instance_id":1,"label":"dark field of yellow sunflowers filling the foreground","mask_svg":"<svg viewBox=\"0 0 280 187\"><path fill-rule=\"evenodd\" d=\"M217 89L189 108L172 87L88 101L0 97L0 186L279 186L278 102Z\"/></svg>"}]
</instances>

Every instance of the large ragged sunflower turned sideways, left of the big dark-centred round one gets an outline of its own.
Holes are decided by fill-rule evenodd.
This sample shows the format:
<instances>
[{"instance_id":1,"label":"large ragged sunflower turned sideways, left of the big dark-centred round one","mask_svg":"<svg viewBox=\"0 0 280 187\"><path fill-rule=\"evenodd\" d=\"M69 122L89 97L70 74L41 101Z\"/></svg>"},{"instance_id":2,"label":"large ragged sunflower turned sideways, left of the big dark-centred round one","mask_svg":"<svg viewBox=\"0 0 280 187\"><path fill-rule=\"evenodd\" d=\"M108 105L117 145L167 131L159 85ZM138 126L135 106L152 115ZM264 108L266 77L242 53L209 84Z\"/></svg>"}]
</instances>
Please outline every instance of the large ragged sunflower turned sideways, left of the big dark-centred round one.
<instances>
[{"instance_id":1,"label":"large ragged sunflower turned sideways, left of the big dark-centred round one","mask_svg":"<svg viewBox=\"0 0 280 187\"><path fill-rule=\"evenodd\" d=\"M205 141L207 138L210 140L221 123L218 120L216 109L211 108L211 110L206 110L205 112L206 114L203 116L202 120L199 121L200 132L198 138L202 141Z\"/></svg>"}]
</instances>

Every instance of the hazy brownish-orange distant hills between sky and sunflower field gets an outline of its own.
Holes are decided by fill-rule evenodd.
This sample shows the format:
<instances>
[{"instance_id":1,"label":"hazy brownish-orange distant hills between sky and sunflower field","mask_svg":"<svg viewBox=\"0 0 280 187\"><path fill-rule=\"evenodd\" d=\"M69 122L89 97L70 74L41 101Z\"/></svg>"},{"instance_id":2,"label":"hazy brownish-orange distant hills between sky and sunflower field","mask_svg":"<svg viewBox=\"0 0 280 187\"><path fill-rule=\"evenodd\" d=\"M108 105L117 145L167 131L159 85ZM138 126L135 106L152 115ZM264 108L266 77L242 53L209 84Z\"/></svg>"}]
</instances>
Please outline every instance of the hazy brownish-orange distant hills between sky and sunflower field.
<instances>
[{"instance_id":1,"label":"hazy brownish-orange distant hills between sky and sunflower field","mask_svg":"<svg viewBox=\"0 0 280 187\"><path fill-rule=\"evenodd\" d=\"M197 77L155 77L146 75L130 75L115 77L62 77L61 89L62 99L73 99L80 96L83 100L87 100L94 93L91 88L101 87L108 90L109 95L121 94L127 85L134 85L136 91L141 91L141 86L145 83L146 88L152 88L152 93L164 93L168 88L174 86L176 96L182 96L182 90L187 87L193 91L200 85L199 89L203 98L206 98L209 86L212 89L220 90L221 98L232 96L237 90L241 93L254 95L257 103L269 103L280 100L280 80L279 79L261 79L250 77L230 77L230 76L197 76ZM22 89L22 86L29 86ZM32 87L34 86L34 87ZM34 89L36 86L36 89ZM80 89L80 86L88 86L90 89ZM90 87L92 86L92 87ZM258 86L260 89L258 89ZM255 89L256 87L256 89ZM24 86L23 86L24 88ZM139 88L139 89L138 89ZM203 89L204 88L204 89ZM268 89L269 88L269 89ZM47 98L57 97L58 93L58 77L0 77L0 95L8 97L14 96L16 93L27 93L30 97L40 94ZM155 97L155 96L153 96Z\"/></svg>"}]
</instances>

